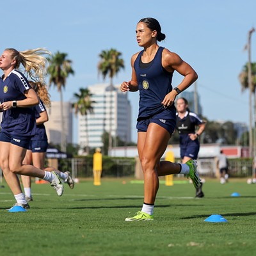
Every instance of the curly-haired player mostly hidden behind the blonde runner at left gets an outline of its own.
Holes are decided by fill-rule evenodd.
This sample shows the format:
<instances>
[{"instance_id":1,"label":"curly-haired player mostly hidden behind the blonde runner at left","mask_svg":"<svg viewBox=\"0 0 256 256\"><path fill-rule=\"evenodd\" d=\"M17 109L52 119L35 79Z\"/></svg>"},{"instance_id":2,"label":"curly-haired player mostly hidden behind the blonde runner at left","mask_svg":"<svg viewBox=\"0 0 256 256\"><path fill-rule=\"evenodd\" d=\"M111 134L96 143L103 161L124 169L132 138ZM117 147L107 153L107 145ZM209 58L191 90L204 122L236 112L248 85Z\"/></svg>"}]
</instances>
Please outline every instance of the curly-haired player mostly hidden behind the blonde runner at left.
<instances>
[{"instance_id":1,"label":"curly-haired player mostly hidden behind the blonde runner at left","mask_svg":"<svg viewBox=\"0 0 256 256\"><path fill-rule=\"evenodd\" d=\"M45 155L48 147L48 139L45 131L44 123L48 121L48 114L45 106L48 108L51 106L50 95L47 91L45 84L42 84L40 81L33 82L29 81L31 87L35 90L36 94L39 97L39 104L33 107L36 116L36 132L35 135L31 138L29 150L26 152L26 156L23 160L23 164L31 164L36 168L46 170L48 172L56 172L59 177L67 182L70 188L74 188L74 181L70 175L70 172L60 172L52 167L44 168L45 166ZM24 193L26 200L33 201L31 195L31 177L21 175L22 184L24 186Z\"/></svg>"}]
</instances>

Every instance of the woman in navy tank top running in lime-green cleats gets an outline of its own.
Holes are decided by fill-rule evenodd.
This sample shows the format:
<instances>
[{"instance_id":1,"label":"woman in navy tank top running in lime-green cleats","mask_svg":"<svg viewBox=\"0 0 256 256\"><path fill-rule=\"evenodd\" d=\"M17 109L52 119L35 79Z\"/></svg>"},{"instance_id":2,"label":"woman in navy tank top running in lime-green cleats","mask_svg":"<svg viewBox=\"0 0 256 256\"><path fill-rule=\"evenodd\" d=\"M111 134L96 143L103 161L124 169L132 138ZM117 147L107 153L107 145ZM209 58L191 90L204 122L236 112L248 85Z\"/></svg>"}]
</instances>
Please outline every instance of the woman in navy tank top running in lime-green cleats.
<instances>
[{"instance_id":1,"label":"woman in navy tank top running in lime-green cleats","mask_svg":"<svg viewBox=\"0 0 256 256\"><path fill-rule=\"evenodd\" d=\"M138 154L144 174L144 203L141 211L125 221L154 220L154 204L159 188L159 176L183 173L200 186L196 161L186 164L160 161L176 126L176 96L197 79L193 68L180 56L157 41L164 40L161 26L154 18L141 19L136 26L136 40L143 51L131 58L132 77L120 85L122 92L140 91ZM172 76L179 72L184 79L173 89Z\"/></svg>"}]
</instances>

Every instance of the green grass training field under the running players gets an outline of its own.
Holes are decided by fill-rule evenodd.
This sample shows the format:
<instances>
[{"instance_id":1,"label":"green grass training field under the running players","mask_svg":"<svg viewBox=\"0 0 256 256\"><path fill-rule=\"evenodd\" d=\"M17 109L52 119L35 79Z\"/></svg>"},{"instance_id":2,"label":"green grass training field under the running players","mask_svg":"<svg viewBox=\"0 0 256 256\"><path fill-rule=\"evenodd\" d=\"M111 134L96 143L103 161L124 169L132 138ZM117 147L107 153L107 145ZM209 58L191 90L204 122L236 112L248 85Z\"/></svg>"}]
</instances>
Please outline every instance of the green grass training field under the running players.
<instances>
[{"instance_id":1,"label":"green grass training field under the running players","mask_svg":"<svg viewBox=\"0 0 256 256\"><path fill-rule=\"evenodd\" d=\"M123 184L125 183L125 184ZM65 184L58 197L48 184L33 184L28 212L0 188L0 255L253 255L256 251L256 185L206 180L205 198L191 184L161 184L154 221L124 221L140 211L143 184L102 179ZM230 196L237 192L241 196ZM227 223L204 220L221 214Z\"/></svg>"}]
</instances>

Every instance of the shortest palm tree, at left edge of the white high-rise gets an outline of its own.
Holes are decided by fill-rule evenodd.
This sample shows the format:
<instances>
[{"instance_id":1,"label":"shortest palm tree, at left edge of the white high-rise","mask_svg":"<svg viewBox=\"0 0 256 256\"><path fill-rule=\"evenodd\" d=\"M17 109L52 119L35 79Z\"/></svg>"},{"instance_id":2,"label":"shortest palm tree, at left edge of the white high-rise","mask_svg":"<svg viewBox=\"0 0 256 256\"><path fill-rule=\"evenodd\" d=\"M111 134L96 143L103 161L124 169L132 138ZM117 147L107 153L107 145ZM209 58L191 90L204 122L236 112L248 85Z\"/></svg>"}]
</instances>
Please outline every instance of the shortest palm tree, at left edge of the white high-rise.
<instances>
[{"instance_id":1,"label":"shortest palm tree, at left edge of the white high-rise","mask_svg":"<svg viewBox=\"0 0 256 256\"><path fill-rule=\"evenodd\" d=\"M91 100L92 93L87 88L80 88L79 93L74 93L74 97L76 98L76 102L72 104L72 108L75 109L75 114L80 113L80 115L85 117L85 125L86 125L86 154L88 155L90 152L89 148L89 133L88 133L88 120L87 114L93 113L92 104L95 103L94 100Z\"/></svg>"}]
</instances>

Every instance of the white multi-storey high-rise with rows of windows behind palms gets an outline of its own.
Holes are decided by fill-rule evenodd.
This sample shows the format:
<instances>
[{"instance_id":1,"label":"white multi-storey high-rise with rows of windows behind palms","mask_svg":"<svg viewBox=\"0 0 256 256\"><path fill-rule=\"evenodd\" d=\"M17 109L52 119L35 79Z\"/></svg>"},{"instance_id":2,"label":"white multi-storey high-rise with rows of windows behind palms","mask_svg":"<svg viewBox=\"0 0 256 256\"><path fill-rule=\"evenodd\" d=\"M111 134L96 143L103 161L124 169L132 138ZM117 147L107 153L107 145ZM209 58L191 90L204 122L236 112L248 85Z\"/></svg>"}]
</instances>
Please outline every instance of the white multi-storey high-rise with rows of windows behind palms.
<instances>
[{"instance_id":1,"label":"white multi-storey high-rise with rows of windows behind palms","mask_svg":"<svg viewBox=\"0 0 256 256\"><path fill-rule=\"evenodd\" d=\"M102 134L111 131L115 138L131 141L131 104L127 93L120 91L120 85L113 90L108 84L88 86L92 93L93 113L87 116L78 115L78 144L81 148L102 147ZM87 120L87 124L86 124ZM87 141L87 138L89 141ZM115 146L115 141L113 141Z\"/></svg>"}]
</instances>

